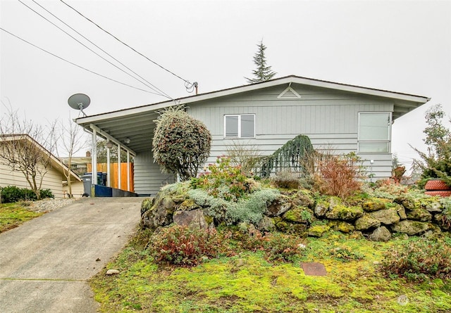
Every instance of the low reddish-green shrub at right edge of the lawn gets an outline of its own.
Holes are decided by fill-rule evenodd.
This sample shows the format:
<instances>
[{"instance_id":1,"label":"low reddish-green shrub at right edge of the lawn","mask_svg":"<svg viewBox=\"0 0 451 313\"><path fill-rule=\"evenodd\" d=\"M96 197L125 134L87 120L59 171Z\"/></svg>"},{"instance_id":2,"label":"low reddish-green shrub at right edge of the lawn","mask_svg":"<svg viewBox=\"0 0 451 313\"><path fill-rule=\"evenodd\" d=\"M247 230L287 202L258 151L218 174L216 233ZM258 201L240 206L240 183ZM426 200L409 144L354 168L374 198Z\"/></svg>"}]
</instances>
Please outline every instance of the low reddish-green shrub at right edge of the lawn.
<instances>
[{"instance_id":1,"label":"low reddish-green shrub at right edge of the lawn","mask_svg":"<svg viewBox=\"0 0 451 313\"><path fill-rule=\"evenodd\" d=\"M410 281L451 279L451 245L425 238L402 242L385 253L381 269Z\"/></svg>"}]
</instances>

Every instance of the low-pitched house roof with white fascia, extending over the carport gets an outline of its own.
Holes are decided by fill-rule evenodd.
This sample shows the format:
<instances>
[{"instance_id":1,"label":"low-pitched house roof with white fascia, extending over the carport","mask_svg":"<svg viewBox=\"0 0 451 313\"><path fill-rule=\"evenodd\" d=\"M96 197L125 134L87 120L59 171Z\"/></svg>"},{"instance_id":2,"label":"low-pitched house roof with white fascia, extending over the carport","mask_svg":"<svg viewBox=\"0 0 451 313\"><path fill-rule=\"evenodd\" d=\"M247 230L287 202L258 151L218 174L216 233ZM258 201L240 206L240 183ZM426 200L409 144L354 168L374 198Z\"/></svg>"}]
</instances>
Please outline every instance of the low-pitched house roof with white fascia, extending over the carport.
<instances>
[{"instance_id":1,"label":"low-pitched house roof with white fascia, extending over the carport","mask_svg":"<svg viewBox=\"0 0 451 313\"><path fill-rule=\"evenodd\" d=\"M394 120L430 100L430 98L425 96L403 94L395 91L385 91L381 89L359 87L350 84L340 84L336 82L327 82L319 79L290 75L257 84L248 84L229 89L221 89L204 94L177 98L171 101L163 101L144 106L137 106L134 108L125 108L123 110L116 110L109 113L79 117L75 120L75 122L89 130L89 132L91 132L92 129L96 129L100 136L110 139L116 144L120 143L126 150L130 151L132 154L135 154L152 149L152 137L156 126L154 120L158 117L159 110L163 108L290 83L390 98L393 100L393 103L395 103L393 112ZM130 143L125 143L126 138L130 139Z\"/></svg>"}]
</instances>

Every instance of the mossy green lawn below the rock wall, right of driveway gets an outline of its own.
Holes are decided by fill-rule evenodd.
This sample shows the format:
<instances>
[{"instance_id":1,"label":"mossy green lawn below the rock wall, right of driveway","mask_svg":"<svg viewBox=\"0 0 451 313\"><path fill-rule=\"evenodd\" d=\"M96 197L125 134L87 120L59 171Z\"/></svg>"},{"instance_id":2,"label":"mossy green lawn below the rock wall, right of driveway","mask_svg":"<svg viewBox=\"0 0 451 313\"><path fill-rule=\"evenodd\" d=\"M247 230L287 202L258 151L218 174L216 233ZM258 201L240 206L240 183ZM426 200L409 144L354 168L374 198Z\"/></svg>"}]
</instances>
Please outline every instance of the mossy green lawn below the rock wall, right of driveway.
<instances>
[{"instance_id":1,"label":"mossy green lawn below the rock wall, right of driveway","mask_svg":"<svg viewBox=\"0 0 451 313\"><path fill-rule=\"evenodd\" d=\"M451 312L451 281L387 278L378 269L396 241L374 243L330 232L307 238L296 262L268 262L245 252L197 267L154 264L132 238L90 281L101 312ZM327 276L306 276L302 262L321 262Z\"/></svg>"}]
</instances>

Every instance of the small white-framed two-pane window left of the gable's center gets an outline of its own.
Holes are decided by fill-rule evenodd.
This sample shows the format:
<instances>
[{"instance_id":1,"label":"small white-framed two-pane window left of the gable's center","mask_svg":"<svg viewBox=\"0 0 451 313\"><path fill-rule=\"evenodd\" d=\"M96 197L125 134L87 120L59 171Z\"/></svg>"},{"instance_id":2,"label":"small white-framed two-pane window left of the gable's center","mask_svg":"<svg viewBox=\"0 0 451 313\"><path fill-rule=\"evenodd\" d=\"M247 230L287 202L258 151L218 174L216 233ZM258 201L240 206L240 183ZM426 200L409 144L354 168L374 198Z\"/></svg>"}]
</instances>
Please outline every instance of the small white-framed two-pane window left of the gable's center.
<instances>
[{"instance_id":1,"label":"small white-framed two-pane window left of the gable's center","mask_svg":"<svg viewBox=\"0 0 451 313\"><path fill-rule=\"evenodd\" d=\"M254 138L255 114L224 115L224 136L229 138Z\"/></svg>"}]
</instances>

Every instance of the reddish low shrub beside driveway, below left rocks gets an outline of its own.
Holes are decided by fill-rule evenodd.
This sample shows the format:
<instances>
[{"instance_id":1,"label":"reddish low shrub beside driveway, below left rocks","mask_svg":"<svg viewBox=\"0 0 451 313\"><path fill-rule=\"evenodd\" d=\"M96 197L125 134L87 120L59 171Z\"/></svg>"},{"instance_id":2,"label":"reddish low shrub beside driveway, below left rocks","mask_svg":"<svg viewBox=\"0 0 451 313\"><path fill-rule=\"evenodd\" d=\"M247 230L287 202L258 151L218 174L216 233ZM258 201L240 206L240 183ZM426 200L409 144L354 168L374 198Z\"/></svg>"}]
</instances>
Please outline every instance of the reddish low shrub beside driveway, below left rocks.
<instances>
[{"instance_id":1,"label":"reddish low shrub beside driveway, below left rocks","mask_svg":"<svg viewBox=\"0 0 451 313\"><path fill-rule=\"evenodd\" d=\"M221 242L216 229L171 226L150 238L149 252L157 263L195 266L204 258L216 257Z\"/></svg>"}]
</instances>

